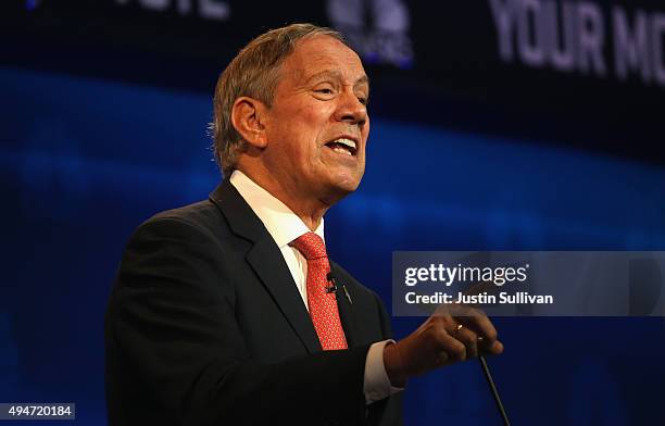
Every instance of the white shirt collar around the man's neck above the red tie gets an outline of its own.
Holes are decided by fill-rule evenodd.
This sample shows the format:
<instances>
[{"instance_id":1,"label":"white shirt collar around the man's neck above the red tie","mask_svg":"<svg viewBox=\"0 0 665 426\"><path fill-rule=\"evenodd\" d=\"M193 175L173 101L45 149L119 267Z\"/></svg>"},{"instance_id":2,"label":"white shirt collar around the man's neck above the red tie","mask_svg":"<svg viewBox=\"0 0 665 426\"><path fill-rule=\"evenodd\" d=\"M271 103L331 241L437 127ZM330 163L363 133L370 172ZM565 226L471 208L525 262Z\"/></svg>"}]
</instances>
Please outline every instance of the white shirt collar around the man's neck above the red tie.
<instances>
[{"instance_id":1,"label":"white shirt collar around the man's neck above the red tie","mask_svg":"<svg viewBox=\"0 0 665 426\"><path fill-rule=\"evenodd\" d=\"M259 216L261 222L263 222L268 234L280 249L288 246L289 242L301 235L310 231L310 228L308 228L304 222L302 222L291 209L260 187L244 173L236 170L231 173L229 180L254 211L256 216ZM314 233L318 235L325 243L323 217Z\"/></svg>"}]
</instances>

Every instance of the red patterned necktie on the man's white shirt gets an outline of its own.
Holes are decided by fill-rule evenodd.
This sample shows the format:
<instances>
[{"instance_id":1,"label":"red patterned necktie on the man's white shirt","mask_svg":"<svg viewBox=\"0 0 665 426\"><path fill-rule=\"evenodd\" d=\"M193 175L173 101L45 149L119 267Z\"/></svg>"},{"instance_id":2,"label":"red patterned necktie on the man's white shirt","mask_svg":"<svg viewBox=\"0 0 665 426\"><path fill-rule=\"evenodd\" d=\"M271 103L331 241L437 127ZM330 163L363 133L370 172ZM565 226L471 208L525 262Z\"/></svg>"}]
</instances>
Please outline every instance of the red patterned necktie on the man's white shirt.
<instances>
[{"instance_id":1,"label":"red patterned necktie on the man's white shirt","mask_svg":"<svg viewBox=\"0 0 665 426\"><path fill-rule=\"evenodd\" d=\"M347 349L335 293L327 291L330 263L323 239L314 233L306 233L290 246L308 260L308 304L321 347L324 351Z\"/></svg>"}]
</instances>

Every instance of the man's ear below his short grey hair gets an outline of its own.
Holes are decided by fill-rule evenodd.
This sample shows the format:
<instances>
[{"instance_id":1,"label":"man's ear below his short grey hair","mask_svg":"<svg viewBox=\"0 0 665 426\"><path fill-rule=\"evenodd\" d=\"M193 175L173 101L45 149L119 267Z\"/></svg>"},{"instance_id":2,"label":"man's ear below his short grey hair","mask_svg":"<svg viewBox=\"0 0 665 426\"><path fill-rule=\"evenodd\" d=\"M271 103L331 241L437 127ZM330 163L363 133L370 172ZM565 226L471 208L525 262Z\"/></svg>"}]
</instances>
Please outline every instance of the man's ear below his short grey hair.
<instances>
[{"instance_id":1,"label":"man's ear below his short grey hair","mask_svg":"<svg viewBox=\"0 0 665 426\"><path fill-rule=\"evenodd\" d=\"M267 146L265 134L266 106L260 100L240 97L231 109L231 124L250 146L263 149Z\"/></svg>"}]
</instances>

